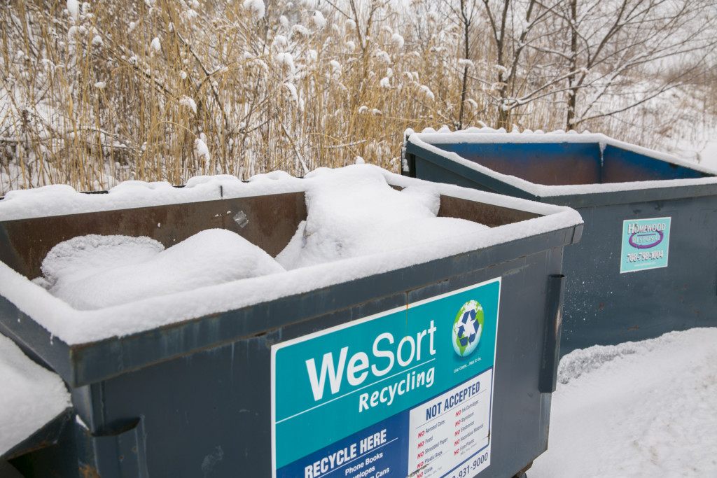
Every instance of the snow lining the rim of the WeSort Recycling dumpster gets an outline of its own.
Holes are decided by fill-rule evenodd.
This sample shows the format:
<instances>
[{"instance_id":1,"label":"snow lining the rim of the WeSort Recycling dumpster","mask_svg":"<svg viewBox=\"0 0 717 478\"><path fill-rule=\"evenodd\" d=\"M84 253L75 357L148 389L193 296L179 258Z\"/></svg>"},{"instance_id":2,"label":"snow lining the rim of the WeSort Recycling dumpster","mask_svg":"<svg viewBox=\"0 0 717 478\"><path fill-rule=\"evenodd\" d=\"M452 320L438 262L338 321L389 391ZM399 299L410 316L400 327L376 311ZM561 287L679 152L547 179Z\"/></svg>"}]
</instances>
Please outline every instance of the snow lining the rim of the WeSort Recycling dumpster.
<instances>
[{"instance_id":1,"label":"snow lining the rim of the WeSort Recycling dumpster","mask_svg":"<svg viewBox=\"0 0 717 478\"><path fill-rule=\"evenodd\" d=\"M351 168L376 168L376 166L361 165ZM201 287L189 292L150 297L98 310L76 310L66 302L49 294L44 288L31 282L29 278L15 272L6 264L0 263L0 295L6 297L19 310L32 317L54 337L69 345L75 345L140 333L175 322L236 310L414 264L583 224L581 216L576 211L564 206L541 204L475 191L470 188L427 183L419 179L398 176L388 171L380 171L389 183L395 186L430 184L431 187L437 188L437 191L447 196L519 209L542 216L487 229L482 234L475 236L455 236L448 241L411 245L389 252L316 264L268 276L240 279L220 285ZM279 181L275 181L276 177L273 177L271 181L266 177L260 177L249 183L241 183L240 181L227 181L227 178L222 177L219 179L204 178L201 183L212 186L222 183L224 197L239 197L257 193L304 191L310 187L311 181L320 181L322 176L325 175L321 174L321 171L317 171L313 178L306 179L281 175ZM288 184L278 184L282 182ZM183 190L177 189L176 191ZM103 196L106 195L90 195L89 197L100 198L101 201ZM189 196L192 200L196 200L198 195L192 192ZM171 194L173 202L187 202L177 201L176 197L173 192ZM162 200L164 199L166 198ZM113 200L110 205L118 206L118 201ZM87 206L85 199L82 199L82 206ZM108 204L103 204L103 206L108 206ZM74 208L75 205L72 207ZM1 219L3 219L3 215L0 211Z\"/></svg>"}]
</instances>

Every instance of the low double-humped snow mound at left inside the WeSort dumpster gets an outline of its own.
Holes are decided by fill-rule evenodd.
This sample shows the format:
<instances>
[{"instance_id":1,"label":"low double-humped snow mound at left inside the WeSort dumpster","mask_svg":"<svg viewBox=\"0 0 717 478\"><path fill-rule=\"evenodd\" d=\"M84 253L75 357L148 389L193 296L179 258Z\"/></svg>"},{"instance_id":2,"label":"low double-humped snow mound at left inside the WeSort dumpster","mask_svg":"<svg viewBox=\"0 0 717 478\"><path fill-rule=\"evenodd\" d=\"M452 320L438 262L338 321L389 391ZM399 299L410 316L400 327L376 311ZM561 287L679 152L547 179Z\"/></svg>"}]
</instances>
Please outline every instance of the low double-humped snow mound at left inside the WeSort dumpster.
<instances>
[{"instance_id":1,"label":"low double-humped snow mound at left inside the WeSort dumpster","mask_svg":"<svg viewBox=\"0 0 717 478\"><path fill-rule=\"evenodd\" d=\"M42 271L52 295L90 310L284 269L242 236L207 229L168 249L146 237L75 237L50 250Z\"/></svg>"}]
</instances>

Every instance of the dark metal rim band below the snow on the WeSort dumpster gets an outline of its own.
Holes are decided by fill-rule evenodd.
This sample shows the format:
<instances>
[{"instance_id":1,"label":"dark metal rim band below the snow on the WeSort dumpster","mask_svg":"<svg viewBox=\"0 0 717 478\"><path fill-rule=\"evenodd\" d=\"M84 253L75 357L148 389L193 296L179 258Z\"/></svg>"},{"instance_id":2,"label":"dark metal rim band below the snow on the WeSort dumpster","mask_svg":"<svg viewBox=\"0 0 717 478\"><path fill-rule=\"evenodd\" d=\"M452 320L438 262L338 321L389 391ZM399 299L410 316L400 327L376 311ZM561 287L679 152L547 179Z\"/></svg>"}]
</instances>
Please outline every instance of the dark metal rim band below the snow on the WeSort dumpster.
<instances>
[{"instance_id":1,"label":"dark metal rim band below the snow on the WeSort dumpster","mask_svg":"<svg viewBox=\"0 0 717 478\"><path fill-rule=\"evenodd\" d=\"M293 325L305 320L310 320L313 317L325 315L327 312L346 310L350 307L380 300L381 298L390 297L391 295L406 294L411 290L450 279L450 277L508 262L516 258L514 253L511 254L511 245L512 242L515 241L525 243L526 254L524 255L526 256L549 249L564 247L579 240L582 227L582 224L577 224L562 229L555 229L536 236L528 236L503 244L497 244L487 249L455 254L450 257L434 259L429 262L394 269L378 275L361 277L335 285L327 285L326 287L308 292L282 297L279 300L261 302L236 310L217 312L179 322L171 322L140 333L124 335L122 337L105 338L92 343L68 345L60 338L53 338L49 330L44 329L42 325L39 325L32 317L19 310L19 308L6 297L0 296L0 311L3 312L0 314L0 330L14 340L26 342L27 338L31 338L34 353L37 353L37 355L50 365L67 383L70 383L70 386L83 386L129 371L138 370L139 368L153 365L154 363L189 355L197 350L216 348L220 345L232 343L244 338L263 335L287 325ZM0 267L6 266L0 264ZM416 277L430 277L431 279L427 281L425 279L416 279ZM384 291L382 297L376 297L375 294L377 280L384 285L383 288L379 288ZM320 305L324 302L321 300L321 297L326 296L327 290L336 288L351 290L352 300L338 305L323 304L323 307L316 307L310 310L310 312L304 313L303 315L296 315L290 320L284 320L283 322L276 321L267 324L267 317L272 317L272 315L267 312L269 312L272 307L277 307L277 302L281 302L279 304L280 307L289 307L293 311L300 310L300 307L310 308L313 303ZM362 288L364 289L363 291ZM360 293L357 293L357 291ZM14 312L14 316L5 313L8 310ZM247 319L247 315L250 318ZM14 317L16 317L17 320L14 320ZM222 337L210 337L205 342L197 342L189 348L184 348L184 350L172 352L161 348L161 343L165 335L179 334L183 335L187 340L192 340L193 338L196 339L197 328L229 328L233 329L233 333ZM143 358L143 360L132 363L132 360L134 360L133 354L125 353L125 348L133 347L133 341L148 341L151 343L148 347L156 352L156 356L153 358ZM101 357L103 360L100 361L101 363L95 360L93 363L97 368L93 371L88 371L80 366L87 360L87 357Z\"/></svg>"}]
</instances>

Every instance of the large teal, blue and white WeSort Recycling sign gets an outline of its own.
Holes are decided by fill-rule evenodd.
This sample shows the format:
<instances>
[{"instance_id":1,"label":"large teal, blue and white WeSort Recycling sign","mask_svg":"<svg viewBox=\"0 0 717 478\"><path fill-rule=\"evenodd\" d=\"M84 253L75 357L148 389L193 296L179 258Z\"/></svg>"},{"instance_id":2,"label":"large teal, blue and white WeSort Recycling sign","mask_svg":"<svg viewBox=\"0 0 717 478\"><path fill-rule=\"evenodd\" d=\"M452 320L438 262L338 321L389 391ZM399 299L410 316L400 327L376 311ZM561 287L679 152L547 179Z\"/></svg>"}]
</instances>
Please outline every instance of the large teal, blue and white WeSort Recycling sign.
<instances>
[{"instance_id":1,"label":"large teal, blue and white WeSort Recycling sign","mask_svg":"<svg viewBox=\"0 0 717 478\"><path fill-rule=\"evenodd\" d=\"M500 277L272 346L276 478L490 464Z\"/></svg>"}]
</instances>

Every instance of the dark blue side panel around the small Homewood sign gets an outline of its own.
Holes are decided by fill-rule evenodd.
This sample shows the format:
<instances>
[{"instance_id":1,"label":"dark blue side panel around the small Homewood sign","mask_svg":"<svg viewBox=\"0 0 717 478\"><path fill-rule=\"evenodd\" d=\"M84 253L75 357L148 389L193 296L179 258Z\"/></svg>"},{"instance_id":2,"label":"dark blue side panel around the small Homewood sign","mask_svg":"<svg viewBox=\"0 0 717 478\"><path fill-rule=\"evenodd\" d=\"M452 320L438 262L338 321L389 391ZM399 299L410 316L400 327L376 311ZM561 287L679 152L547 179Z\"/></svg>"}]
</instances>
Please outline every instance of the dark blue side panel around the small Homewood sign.
<instances>
[{"instance_id":1,"label":"dark blue side panel around the small Homewood sign","mask_svg":"<svg viewBox=\"0 0 717 478\"><path fill-rule=\"evenodd\" d=\"M565 252L561 354L717 325L717 196L579 209ZM668 265L620 273L625 220L670 218Z\"/></svg>"}]
</instances>

